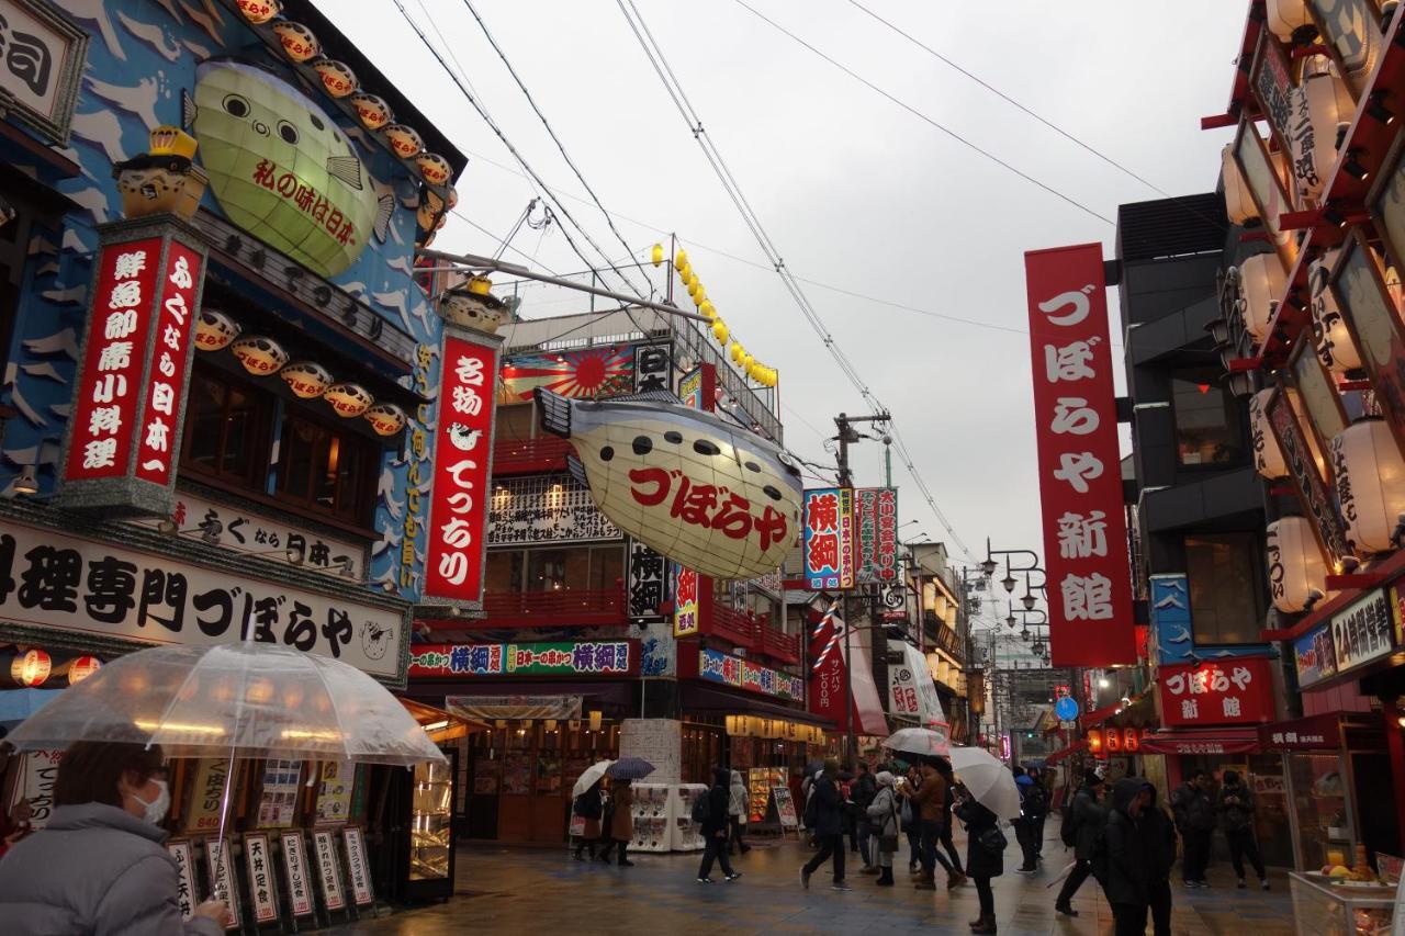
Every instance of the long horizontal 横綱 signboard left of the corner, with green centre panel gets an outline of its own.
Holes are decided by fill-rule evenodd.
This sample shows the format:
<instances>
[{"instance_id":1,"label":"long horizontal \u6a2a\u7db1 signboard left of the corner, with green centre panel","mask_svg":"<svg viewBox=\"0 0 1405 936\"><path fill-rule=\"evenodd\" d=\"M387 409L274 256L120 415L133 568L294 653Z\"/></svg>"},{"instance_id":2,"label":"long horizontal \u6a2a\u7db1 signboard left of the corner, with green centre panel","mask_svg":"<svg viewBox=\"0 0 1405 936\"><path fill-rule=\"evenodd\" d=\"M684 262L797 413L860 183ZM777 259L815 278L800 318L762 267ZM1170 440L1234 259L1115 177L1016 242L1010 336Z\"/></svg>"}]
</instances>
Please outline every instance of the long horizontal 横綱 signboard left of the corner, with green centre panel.
<instances>
[{"instance_id":1,"label":"long horizontal \u6a2a\u7db1 signboard left of the corner, with green centre panel","mask_svg":"<svg viewBox=\"0 0 1405 936\"><path fill-rule=\"evenodd\" d=\"M417 644L410 676L629 676L639 672L639 642Z\"/></svg>"}]
</instances>

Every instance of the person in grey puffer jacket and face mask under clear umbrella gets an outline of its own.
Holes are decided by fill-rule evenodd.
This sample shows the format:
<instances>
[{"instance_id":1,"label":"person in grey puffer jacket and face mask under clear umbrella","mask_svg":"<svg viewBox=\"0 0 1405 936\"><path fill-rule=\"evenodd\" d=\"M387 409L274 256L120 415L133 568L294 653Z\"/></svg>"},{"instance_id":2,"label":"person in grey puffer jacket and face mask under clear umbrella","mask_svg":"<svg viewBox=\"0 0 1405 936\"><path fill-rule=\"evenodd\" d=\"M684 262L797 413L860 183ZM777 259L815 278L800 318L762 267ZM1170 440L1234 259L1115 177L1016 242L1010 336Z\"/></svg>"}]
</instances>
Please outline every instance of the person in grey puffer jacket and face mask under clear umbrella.
<instances>
[{"instance_id":1,"label":"person in grey puffer jacket and face mask under clear umbrella","mask_svg":"<svg viewBox=\"0 0 1405 936\"><path fill-rule=\"evenodd\" d=\"M190 919L160 822L170 808L162 749L84 741L59 762L48 825L0 860L0 919L14 936L218 936L225 905Z\"/></svg>"}]
</instances>

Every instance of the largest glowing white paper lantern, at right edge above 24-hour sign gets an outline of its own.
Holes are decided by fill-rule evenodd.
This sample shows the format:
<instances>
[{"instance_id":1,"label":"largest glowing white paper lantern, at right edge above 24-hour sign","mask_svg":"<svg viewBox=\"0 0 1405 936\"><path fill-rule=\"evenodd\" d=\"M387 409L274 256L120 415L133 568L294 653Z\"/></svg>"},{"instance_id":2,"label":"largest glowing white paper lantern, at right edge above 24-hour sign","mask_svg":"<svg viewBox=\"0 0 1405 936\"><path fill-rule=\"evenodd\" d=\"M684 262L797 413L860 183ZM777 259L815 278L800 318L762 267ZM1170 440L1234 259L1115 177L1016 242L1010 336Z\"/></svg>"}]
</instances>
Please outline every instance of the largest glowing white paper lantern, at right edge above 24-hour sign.
<instances>
[{"instance_id":1,"label":"largest glowing white paper lantern, at right edge above 24-hour sign","mask_svg":"<svg viewBox=\"0 0 1405 936\"><path fill-rule=\"evenodd\" d=\"M1347 426L1332 440L1332 471L1357 552L1388 552L1391 533L1405 513L1405 458L1380 419Z\"/></svg>"}]
</instances>

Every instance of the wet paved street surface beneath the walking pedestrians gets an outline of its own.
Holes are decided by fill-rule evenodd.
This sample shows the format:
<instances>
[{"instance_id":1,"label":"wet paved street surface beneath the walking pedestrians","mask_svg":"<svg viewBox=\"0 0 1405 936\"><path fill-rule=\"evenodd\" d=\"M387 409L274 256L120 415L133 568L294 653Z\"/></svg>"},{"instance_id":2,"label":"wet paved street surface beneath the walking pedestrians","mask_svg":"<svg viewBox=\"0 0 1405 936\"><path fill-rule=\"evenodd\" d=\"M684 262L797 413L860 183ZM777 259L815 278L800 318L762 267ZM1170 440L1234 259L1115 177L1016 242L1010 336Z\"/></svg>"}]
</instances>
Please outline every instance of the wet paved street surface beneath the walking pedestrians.
<instances>
[{"instance_id":1,"label":"wet paved street surface beneath the walking pedestrians","mask_svg":"<svg viewBox=\"0 0 1405 936\"><path fill-rule=\"evenodd\" d=\"M1054 894L1045 885L1064 867L1064 846L1055 824L1048 828L1047 871L1028 878L1014 874L1019 853L1006 854L1012 869L995 883L1002 933L1014 936L1093 936L1111 933L1111 915L1089 881L1075 908L1078 919L1055 918ZM903 846L906 847L906 845ZM964 853L964 845L961 845ZM572 862L565 849L509 849L473 845L459 849L458 897L448 904L400 912L374 922L339 928L339 933L440 936L496 933L968 933L976 916L969 884L955 892L915 891L906 873L906 852L898 885L874 887L873 877L850 876L851 892L829 890L829 876L816 873L811 890L799 887L797 867L809 852L794 839L759 845L735 859L742 880L695 881L695 854L638 854L635 867ZM1273 877L1274 890L1238 891L1228 866L1211 870L1213 890L1175 891L1175 932L1234 936L1281 936L1293 932L1287 880Z\"/></svg>"}]
</instances>

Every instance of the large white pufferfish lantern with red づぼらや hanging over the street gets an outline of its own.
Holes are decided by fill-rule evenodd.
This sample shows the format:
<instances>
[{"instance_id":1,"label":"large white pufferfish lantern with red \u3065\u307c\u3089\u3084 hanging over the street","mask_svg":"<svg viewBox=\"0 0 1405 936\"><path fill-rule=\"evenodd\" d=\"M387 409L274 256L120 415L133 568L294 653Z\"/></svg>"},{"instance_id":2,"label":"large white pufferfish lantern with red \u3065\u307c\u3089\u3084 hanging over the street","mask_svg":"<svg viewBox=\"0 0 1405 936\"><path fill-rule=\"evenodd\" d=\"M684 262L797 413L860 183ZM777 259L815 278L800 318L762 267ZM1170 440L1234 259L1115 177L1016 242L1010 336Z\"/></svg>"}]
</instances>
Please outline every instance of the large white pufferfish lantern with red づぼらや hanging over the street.
<instances>
[{"instance_id":1,"label":"large white pufferfish lantern with red \u3065\u307c\u3089\u3084 hanging over the street","mask_svg":"<svg viewBox=\"0 0 1405 936\"><path fill-rule=\"evenodd\" d=\"M715 579L776 572L799 530L799 467L776 444L672 394L582 401L535 391L544 430L617 527Z\"/></svg>"}]
</instances>

